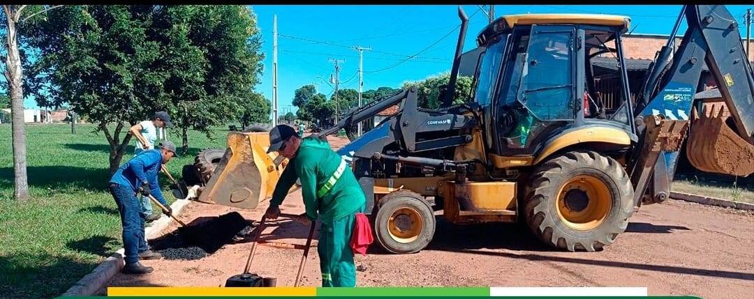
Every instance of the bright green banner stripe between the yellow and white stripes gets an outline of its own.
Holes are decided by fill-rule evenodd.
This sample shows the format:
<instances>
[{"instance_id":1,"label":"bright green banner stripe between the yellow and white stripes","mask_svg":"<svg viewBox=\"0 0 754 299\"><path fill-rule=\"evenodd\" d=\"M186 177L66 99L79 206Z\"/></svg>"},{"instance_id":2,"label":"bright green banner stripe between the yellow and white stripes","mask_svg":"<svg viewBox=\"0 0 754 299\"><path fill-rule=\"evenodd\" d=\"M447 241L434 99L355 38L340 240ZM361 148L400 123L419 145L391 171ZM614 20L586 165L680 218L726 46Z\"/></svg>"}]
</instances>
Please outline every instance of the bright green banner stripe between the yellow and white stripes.
<instances>
[{"instance_id":1,"label":"bright green banner stripe between the yellow and white stripes","mask_svg":"<svg viewBox=\"0 0 754 299\"><path fill-rule=\"evenodd\" d=\"M400 297L440 297L440 296L483 296L489 297L489 288L446 288L446 287L363 287L363 288L317 288L320 296L400 296Z\"/></svg>"}]
</instances>

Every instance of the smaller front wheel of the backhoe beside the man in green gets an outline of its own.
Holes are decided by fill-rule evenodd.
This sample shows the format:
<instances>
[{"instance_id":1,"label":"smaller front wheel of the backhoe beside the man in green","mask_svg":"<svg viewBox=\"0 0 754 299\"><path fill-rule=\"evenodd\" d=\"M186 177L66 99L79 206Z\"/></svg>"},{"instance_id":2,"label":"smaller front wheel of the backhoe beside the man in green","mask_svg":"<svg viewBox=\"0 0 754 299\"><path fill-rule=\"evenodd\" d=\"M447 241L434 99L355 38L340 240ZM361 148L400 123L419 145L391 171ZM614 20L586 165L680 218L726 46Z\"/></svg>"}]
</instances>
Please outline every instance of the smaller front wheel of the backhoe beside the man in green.
<instances>
[{"instance_id":1,"label":"smaller front wheel of the backhoe beside the man in green","mask_svg":"<svg viewBox=\"0 0 754 299\"><path fill-rule=\"evenodd\" d=\"M373 225L377 243L388 252L419 252L434 236L434 212L421 195L399 190L379 200Z\"/></svg>"}]
</instances>

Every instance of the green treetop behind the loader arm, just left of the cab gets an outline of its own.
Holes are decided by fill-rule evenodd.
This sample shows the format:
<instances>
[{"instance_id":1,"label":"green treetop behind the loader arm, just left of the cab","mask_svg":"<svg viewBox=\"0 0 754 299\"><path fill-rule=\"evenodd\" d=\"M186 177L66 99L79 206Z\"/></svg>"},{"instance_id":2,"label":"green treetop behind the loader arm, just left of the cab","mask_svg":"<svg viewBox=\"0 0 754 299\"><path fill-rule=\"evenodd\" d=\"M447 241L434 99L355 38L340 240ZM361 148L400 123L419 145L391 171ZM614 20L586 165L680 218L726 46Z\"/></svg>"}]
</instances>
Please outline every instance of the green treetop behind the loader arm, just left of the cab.
<instances>
[{"instance_id":1,"label":"green treetop behind the loader arm, just left of the cab","mask_svg":"<svg viewBox=\"0 0 754 299\"><path fill-rule=\"evenodd\" d=\"M468 76L458 76L455 82L455 96L453 104L461 104L469 101L471 84L473 78ZM445 72L440 75L433 75L422 81L409 81L403 84L403 89L416 87L418 93L418 105L422 108L436 109L440 107L440 87L450 83L450 73Z\"/></svg>"}]
</instances>

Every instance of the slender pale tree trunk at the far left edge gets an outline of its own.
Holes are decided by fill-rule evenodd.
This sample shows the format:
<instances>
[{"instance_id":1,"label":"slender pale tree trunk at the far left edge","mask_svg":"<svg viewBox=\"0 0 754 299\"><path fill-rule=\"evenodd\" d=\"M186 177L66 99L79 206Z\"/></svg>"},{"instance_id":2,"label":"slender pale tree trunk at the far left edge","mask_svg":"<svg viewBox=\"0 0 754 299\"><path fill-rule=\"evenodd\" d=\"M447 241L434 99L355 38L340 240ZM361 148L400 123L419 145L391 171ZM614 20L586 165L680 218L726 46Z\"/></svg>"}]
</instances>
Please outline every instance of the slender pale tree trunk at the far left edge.
<instances>
[{"instance_id":1,"label":"slender pale tree trunk at the far left edge","mask_svg":"<svg viewBox=\"0 0 754 299\"><path fill-rule=\"evenodd\" d=\"M8 56L5 57L5 80L11 91L11 126L13 135L13 168L15 200L29 200L29 184L26 181L26 130L23 124L23 81L21 80L21 57L18 53L18 38L16 36L16 22L20 9L13 9L11 5L3 5L5 20L8 21L7 46Z\"/></svg>"}]
</instances>

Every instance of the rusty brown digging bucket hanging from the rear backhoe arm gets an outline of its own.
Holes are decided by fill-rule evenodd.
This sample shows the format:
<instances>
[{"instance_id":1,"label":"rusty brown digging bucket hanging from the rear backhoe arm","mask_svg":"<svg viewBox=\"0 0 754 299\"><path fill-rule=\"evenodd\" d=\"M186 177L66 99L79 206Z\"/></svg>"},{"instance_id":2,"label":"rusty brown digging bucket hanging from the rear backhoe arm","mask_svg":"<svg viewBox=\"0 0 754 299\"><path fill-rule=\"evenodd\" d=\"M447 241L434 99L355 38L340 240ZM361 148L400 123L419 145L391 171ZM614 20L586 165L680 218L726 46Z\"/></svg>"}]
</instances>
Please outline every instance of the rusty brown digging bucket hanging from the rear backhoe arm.
<instances>
[{"instance_id":1,"label":"rusty brown digging bucket hanging from the rear backhoe arm","mask_svg":"<svg viewBox=\"0 0 754 299\"><path fill-rule=\"evenodd\" d=\"M702 171L750 175L754 172L754 145L725 124L729 115L725 103L705 103L702 113L691 124L686 157L691 165ZM692 118L697 118L695 110Z\"/></svg>"}]
</instances>

